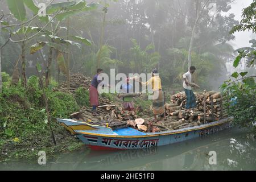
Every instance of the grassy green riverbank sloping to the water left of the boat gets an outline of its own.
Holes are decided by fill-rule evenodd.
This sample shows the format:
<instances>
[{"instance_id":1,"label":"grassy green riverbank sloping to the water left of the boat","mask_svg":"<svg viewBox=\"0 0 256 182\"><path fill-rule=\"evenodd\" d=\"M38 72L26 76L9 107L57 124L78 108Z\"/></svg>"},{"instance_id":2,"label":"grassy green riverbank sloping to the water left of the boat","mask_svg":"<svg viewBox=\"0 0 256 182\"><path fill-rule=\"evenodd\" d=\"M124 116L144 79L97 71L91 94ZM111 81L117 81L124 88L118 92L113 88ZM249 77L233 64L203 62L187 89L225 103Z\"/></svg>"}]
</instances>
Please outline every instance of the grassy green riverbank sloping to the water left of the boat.
<instances>
[{"instance_id":1,"label":"grassy green riverbank sloping to the water left of the boat","mask_svg":"<svg viewBox=\"0 0 256 182\"><path fill-rule=\"evenodd\" d=\"M38 78L31 76L24 88L20 83L10 86L11 78L7 74L3 75L3 92L0 94L0 162L38 158L39 151L53 156L58 152L73 151L84 146L57 123L56 118L69 118L80 107L89 106L87 88L78 88L75 93L61 92L53 89L57 83L51 81L46 89L56 139L54 146ZM106 97L117 100L113 95ZM143 116L146 111L150 113L150 104L151 101L143 98L136 100L135 106L142 107L138 115Z\"/></svg>"}]
</instances>

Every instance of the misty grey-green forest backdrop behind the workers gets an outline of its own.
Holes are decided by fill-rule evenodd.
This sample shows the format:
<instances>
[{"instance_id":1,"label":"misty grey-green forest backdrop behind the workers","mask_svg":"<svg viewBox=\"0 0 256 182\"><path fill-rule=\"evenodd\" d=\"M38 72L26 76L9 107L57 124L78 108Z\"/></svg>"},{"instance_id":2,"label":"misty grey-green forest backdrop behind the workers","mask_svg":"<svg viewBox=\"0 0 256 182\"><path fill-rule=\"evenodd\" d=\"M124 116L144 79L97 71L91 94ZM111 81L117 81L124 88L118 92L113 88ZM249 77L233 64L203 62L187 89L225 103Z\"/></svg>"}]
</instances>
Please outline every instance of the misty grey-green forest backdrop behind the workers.
<instances>
[{"instance_id":1,"label":"misty grey-green forest backdrop behind the workers","mask_svg":"<svg viewBox=\"0 0 256 182\"><path fill-rule=\"evenodd\" d=\"M216 0L203 9L204 2L207 1L124 0L106 1L106 6L103 1L96 10L73 15L70 19L71 34L91 40L92 46L82 46L81 49L70 47L71 73L93 76L100 57L100 67L106 73L110 68L126 74L150 73L157 68L165 89L179 90L182 88L182 75L188 69L189 49L192 48L191 62L197 68L193 80L202 89L217 90L234 71L234 50L249 47L249 40L255 38L251 32L229 34L231 28L241 20L242 9L249 6L252 0ZM0 6L6 14L9 13L5 1L0 1ZM105 22L104 6L108 10ZM201 15L196 23L198 12ZM14 21L10 18L10 22ZM40 22L31 26L36 25L40 25ZM60 22L60 26L67 27L67 20ZM195 34L191 47L193 27ZM66 34L59 31L57 36L65 37ZM8 35L4 36L7 38ZM99 56L101 36L103 46ZM38 61L44 67L42 60L47 59L47 47L43 48L42 55L31 55L29 52L29 47L39 40L33 39L26 45L27 76L35 74ZM9 75L13 73L19 55L19 44L9 43L3 48L4 72ZM65 80L65 74L60 71L57 52L53 53L53 57L52 78L61 82ZM247 69L243 62L237 68L240 71ZM252 72L255 72L255 68L250 69Z\"/></svg>"}]
</instances>

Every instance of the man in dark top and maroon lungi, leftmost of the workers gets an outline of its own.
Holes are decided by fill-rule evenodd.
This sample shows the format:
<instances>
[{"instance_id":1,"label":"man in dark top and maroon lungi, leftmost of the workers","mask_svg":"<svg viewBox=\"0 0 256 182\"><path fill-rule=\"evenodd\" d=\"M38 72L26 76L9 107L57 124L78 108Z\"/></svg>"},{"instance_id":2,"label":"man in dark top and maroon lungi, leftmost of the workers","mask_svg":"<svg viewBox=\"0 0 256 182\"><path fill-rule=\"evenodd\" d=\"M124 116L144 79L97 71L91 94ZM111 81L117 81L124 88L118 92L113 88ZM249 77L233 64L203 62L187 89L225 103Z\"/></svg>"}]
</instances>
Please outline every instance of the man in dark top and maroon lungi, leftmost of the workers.
<instances>
[{"instance_id":1,"label":"man in dark top and maroon lungi, leftmost of the workers","mask_svg":"<svg viewBox=\"0 0 256 182\"><path fill-rule=\"evenodd\" d=\"M98 84L100 84L101 80L98 80L98 76L103 73L103 69L97 69L97 74L93 77L92 83L89 88L89 99L90 105L93 107L93 116L99 116L97 113L98 102Z\"/></svg>"}]
</instances>

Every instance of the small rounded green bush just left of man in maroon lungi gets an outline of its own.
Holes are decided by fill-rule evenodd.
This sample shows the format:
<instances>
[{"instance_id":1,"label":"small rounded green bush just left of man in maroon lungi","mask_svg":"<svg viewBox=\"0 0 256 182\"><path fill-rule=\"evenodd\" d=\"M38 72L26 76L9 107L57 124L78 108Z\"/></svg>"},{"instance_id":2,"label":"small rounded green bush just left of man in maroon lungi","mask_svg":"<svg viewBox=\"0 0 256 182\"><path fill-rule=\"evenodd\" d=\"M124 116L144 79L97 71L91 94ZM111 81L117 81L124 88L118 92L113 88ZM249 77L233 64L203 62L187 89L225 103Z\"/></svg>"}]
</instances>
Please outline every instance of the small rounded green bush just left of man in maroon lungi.
<instances>
[{"instance_id":1,"label":"small rounded green bush just left of man in maroon lungi","mask_svg":"<svg viewBox=\"0 0 256 182\"><path fill-rule=\"evenodd\" d=\"M88 89L80 87L76 90L75 94L76 102L80 107L90 106Z\"/></svg>"}]
</instances>

